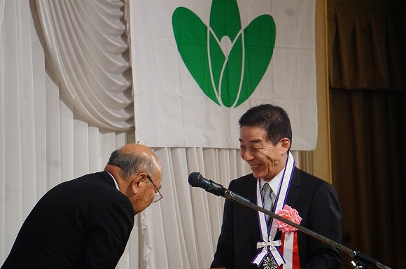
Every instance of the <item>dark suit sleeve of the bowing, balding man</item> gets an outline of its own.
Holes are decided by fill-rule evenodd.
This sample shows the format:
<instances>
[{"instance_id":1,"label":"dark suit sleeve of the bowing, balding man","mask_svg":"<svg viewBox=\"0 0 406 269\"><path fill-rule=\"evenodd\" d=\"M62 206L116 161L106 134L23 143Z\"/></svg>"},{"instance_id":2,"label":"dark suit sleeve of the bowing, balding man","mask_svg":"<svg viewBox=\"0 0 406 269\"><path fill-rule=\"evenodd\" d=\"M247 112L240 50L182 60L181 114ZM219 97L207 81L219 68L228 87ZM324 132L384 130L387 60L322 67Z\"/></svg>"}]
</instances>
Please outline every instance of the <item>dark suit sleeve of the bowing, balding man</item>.
<instances>
[{"instance_id":1,"label":"dark suit sleeve of the bowing, balding man","mask_svg":"<svg viewBox=\"0 0 406 269\"><path fill-rule=\"evenodd\" d=\"M125 199L115 196L90 213L83 268L116 268L134 225L132 205Z\"/></svg>"}]
</instances>

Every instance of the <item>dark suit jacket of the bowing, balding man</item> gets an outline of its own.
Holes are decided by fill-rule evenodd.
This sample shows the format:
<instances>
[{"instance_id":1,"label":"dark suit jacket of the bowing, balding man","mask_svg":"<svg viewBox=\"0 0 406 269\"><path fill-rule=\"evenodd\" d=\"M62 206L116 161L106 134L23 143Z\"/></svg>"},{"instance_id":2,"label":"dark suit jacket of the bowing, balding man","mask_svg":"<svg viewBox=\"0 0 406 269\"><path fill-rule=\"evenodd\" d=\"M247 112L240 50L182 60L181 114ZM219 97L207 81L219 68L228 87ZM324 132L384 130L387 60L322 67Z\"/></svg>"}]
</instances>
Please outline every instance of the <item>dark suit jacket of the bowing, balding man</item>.
<instances>
[{"instance_id":1,"label":"dark suit jacket of the bowing, balding man","mask_svg":"<svg viewBox=\"0 0 406 269\"><path fill-rule=\"evenodd\" d=\"M115 268L133 225L132 204L110 174L87 174L43 195L1 269Z\"/></svg>"}]
</instances>

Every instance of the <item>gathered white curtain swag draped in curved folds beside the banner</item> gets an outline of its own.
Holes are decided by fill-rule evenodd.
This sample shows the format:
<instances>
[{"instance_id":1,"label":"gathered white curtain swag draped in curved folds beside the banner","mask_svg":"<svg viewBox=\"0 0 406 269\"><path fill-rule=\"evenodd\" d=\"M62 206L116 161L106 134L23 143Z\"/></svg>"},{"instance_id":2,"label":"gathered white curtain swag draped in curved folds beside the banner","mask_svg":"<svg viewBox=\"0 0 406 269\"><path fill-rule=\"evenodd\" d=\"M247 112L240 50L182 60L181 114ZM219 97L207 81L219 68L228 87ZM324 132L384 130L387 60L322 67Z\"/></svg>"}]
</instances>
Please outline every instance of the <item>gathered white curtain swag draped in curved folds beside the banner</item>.
<instances>
[{"instance_id":1,"label":"gathered white curtain swag draped in curved folds beside the banner","mask_svg":"<svg viewBox=\"0 0 406 269\"><path fill-rule=\"evenodd\" d=\"M123 1L36 0L50 60L66 97L98 127L134 125Z\"/></svg>"}]
</instances>

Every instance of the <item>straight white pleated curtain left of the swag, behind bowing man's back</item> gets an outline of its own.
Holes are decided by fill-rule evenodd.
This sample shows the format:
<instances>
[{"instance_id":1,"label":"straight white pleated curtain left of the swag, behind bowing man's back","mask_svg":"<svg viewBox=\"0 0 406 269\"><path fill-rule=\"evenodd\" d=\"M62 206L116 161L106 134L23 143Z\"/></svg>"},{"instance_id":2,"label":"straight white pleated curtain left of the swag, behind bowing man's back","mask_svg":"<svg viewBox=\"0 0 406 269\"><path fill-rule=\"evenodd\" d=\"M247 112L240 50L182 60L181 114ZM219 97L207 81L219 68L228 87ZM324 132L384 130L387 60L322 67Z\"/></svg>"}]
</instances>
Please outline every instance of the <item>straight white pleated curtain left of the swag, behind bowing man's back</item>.
<instances>
[{"instance_id":1,"label":"straight white pleated curtain left of the swag, behind bowing man's back","mask_svg":"<svg viewBox=\"0 0 406 269\"><path fill-rule=\"evenodd\" d=\"M87 123L45 62L34 1L0 0L0 264L50 188L102 170L134 140ZM38 34L40 33L40 34ZM33 246L35 247L35 246Z\"/></svg>"}]
</instances>

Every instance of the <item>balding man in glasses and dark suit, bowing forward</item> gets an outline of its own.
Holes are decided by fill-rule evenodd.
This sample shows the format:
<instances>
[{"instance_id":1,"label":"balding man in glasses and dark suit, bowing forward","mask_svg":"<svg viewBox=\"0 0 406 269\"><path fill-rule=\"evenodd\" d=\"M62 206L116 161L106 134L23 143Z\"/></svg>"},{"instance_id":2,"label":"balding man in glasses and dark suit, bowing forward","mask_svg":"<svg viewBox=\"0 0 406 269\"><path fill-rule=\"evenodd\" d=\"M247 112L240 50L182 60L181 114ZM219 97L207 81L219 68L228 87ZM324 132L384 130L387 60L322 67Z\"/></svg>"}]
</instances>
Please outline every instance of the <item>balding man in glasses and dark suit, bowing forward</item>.
<instances>
[{"instance_id":1,"label":"balding man in glasses and dark suit, bowing forward","mask_svg":"<svg viewBox=\"0 0 406 269\"><path fill-rule=\"evenodd\" d=\"M115 268L134 215L160 200L162 168L147 146L113 151L103 172L52 188L23 223L8 268Z\"/></svg>"}]
</instances>

